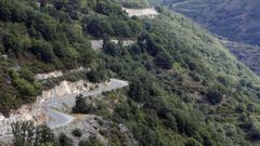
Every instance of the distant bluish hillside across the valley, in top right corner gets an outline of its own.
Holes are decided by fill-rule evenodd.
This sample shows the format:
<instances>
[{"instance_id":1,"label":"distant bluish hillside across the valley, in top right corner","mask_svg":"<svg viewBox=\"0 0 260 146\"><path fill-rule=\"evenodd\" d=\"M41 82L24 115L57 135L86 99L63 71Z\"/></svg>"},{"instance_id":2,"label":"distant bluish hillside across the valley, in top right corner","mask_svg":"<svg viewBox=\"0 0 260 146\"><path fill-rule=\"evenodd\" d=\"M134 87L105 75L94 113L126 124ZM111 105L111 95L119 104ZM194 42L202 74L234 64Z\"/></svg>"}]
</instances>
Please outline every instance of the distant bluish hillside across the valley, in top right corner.
<instances>
[{"instance_id":1,"label":"distant bluish hillside across the valley, in top right corner","mask_svg":"<svg viewBox=\"0 0 260 146\"><path fill-rule=\"evenodd\" d=\"M158 0L152 0L157 2ZM260 1L257 0L159 0L214 34L232 41L260 44Z\"/></svg>"}]
</instances>

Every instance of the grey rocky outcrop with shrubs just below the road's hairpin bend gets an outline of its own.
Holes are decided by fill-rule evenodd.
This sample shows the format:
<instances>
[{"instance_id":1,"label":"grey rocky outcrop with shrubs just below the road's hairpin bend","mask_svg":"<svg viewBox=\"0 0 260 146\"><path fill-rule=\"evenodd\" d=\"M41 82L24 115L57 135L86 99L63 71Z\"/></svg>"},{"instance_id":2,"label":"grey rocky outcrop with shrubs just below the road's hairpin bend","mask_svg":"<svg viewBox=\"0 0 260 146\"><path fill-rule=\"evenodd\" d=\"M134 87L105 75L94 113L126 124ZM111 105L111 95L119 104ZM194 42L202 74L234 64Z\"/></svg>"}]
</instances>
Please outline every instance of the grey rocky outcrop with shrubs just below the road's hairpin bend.
<instances>
[{"instance_id":1,"label":"grey rocky outcrop with shrubs just below the road's hairpin bend","mask_svg":"<svg viewBox=\"0 0 260 146\"><path fill-rule=\"evenodd\" d=\"M74 145L77 145L82 140L88 140L90 136L99 138L103 145L108 145L107 135L113 134L113 129L118 129L123 137L123 142L128 146L138 146L138 142L133 138L132 133L123 124L116 124L112 121L107 121L102 117L95 115L78 115L75 116L76 120L63 128L55 129L55 133L67 133L67 135L74 141ZM81 137L75 137L72 131L79 129L82 132ZM106 134L104 134L106 133Z\"/></svg>"}]
</instances>

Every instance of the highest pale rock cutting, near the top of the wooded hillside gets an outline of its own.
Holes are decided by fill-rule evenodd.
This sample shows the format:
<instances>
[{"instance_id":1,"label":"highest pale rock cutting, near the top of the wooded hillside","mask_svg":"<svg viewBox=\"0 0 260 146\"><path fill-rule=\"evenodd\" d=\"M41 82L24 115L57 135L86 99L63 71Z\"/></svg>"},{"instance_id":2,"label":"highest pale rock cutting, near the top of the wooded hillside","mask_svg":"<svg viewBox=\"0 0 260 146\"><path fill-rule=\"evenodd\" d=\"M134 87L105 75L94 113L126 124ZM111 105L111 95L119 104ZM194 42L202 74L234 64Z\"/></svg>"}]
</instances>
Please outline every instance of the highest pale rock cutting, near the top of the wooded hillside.
<instances>
[{"instance_id":1,"label":"highest pale rock cutting, near the top of the wooded hillside","mask_svg":"<svg viewBox=\"0 0 260 146\"><path fill-rule=\"evenodd\" d=\"M146 17L150 17L150 18L154 18L156 15L159 14L154 8L148 8L148 9L126 9L126 8L122 8L122 10L126 11L130 17L131 16L138 16L138 17L146 16Z\"/></svg>"}]
</instances>

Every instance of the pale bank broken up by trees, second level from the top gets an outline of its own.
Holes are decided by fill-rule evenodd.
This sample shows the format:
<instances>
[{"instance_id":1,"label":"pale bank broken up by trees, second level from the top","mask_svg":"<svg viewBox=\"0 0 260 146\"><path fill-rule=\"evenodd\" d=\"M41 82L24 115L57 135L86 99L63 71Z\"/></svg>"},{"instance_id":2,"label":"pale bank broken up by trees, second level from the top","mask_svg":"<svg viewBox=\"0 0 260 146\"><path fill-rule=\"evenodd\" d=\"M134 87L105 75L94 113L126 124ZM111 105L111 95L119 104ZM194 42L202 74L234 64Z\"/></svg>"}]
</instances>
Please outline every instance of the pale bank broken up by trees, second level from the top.
<instances>
[{"instance_id":1,"label":"pale bank broken up by trees, second level from the top","mask_svg":"<svg viewBox=\"0 0 260 146\"><path fill-rule=\"evenodd\" d=\"M116 40L116 39L113 39L110 41L115 42L115 43L119 42L119 40ZM90 42L91 42L91 48L93 50L99 51L103 48L103 40L91 40ZM121 42L122 42L123 47L128 47L128 45L135 43L136 41L135 40L122 40Z\"/></svg>"}]
</instances>

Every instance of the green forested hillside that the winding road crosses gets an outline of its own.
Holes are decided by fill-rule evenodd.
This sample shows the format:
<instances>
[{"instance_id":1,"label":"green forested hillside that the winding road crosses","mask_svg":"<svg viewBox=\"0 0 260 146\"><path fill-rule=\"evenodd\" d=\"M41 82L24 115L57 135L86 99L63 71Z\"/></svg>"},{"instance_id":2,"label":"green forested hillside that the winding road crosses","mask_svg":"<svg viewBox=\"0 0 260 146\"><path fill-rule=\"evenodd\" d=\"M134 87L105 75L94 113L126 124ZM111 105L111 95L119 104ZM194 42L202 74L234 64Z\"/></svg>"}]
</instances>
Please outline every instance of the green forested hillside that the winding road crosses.
<instances>
[{"instance_id":1,"label":"green forested hillside that the winding road crosses","mask_svg":"<svg viewBox=\"0 0 260 146\"><path fill-rule=\"evenodd\" d=\"M141 146L257 146L259 77L188 18L161 8L154 18L129 17L122 4L147 4L130 2L1 0L1 112L36 99L46 84L35 74L84 66L91 71L77 79L113 77L130 87L93 104L78 98L72 112L123 123ZM92 39L104 40L101 52ZM112 146L127 145L118 130L103 134Z\"/></svg>"}]
</instances>

